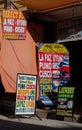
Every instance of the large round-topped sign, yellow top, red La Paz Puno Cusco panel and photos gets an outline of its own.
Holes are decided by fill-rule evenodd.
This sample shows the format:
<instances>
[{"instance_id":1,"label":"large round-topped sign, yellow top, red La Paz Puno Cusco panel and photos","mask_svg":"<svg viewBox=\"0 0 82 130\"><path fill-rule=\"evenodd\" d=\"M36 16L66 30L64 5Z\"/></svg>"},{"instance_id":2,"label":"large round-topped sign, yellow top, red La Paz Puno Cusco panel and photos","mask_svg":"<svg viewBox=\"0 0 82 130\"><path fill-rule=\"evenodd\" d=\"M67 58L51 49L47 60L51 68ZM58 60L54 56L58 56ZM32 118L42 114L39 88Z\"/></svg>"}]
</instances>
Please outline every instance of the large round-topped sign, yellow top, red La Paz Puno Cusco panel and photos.
<instances>
[{"instance_id":1,"label":"large round-topped sign, yellow top, red La Paz Puno Cusco panel and photos","mask_svg":"<svg viewBox=\"0 0 82 130\"><path fill-rule=\"evenodd\" d=\"M61 44L39 43L38 62L40 102L55 105L58 87L70 80L69 52Z\"/></svg>"}]
</instances>

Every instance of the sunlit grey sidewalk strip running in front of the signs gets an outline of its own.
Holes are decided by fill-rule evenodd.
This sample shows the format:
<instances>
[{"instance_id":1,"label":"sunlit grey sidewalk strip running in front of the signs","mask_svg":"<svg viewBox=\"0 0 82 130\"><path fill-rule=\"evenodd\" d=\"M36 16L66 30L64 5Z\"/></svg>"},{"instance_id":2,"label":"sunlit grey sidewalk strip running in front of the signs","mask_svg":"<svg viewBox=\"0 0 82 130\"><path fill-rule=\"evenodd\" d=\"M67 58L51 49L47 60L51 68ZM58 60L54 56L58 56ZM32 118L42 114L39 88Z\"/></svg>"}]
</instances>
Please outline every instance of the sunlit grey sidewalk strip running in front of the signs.
<instances>
[{"instance_id":1,"label":"sunlit grey sidewalk strip running in front of the signs","mask_svg":"<svg viewBox=\"0 0 82 130\"><path fill-rule=\"evenodd\" d=\"M69 127L78 127L82 128L82 124L76 122L67 122L67 121L59 121L59 120L52 120L52 119L45 119L41 118L40 120L36 115L29 118L27 117L13 117L8 118L6 116L0 115L0 120L6 120L10 122L19 122L25 124L32 124L37 126L46 126L46 127L53 127L53 128L69 128Z\"/></svg>"}]
</instances>

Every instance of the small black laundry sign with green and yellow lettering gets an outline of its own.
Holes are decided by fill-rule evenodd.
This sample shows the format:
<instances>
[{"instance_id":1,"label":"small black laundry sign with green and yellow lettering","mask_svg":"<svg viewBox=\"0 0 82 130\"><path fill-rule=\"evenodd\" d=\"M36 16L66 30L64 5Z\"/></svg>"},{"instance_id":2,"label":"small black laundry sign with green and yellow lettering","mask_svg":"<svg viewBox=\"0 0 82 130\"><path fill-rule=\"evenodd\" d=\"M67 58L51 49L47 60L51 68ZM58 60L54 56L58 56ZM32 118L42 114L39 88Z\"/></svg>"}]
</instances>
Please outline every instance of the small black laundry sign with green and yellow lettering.
<instances>
[{"instance_id":1,"label":"small black laundry sign with green and yellow lettering","mask_svg":"<svg viewBox=\"0 0 82 130\"><path fill-rule=\"evenodd\" d=\"M57 115L72 116L74 107L74 87L59 87Z\"/></svg>"}]
</instances>

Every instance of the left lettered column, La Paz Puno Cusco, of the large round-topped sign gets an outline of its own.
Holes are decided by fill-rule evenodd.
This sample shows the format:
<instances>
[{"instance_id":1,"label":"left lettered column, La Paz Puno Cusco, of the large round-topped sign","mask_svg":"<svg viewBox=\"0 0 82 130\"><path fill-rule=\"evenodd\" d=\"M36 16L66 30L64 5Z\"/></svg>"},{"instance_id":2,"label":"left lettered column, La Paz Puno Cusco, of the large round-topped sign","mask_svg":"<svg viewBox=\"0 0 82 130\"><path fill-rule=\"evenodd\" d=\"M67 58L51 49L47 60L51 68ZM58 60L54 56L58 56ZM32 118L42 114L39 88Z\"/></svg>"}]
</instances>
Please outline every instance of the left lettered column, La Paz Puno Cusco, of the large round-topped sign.
<instances>
[{"instance_id":1,"label":"left lettered column, La Paz Puno Cusco, of the large round-topped sign","mask_svg":"<svg viewBox=\"0 0 82 130\"><path fill-rule=\"evenodd\" d=\"M39 87L40 101L45 104L53 104L52 100L52 54L39 52Z\"/></svg>"}]
</instances>

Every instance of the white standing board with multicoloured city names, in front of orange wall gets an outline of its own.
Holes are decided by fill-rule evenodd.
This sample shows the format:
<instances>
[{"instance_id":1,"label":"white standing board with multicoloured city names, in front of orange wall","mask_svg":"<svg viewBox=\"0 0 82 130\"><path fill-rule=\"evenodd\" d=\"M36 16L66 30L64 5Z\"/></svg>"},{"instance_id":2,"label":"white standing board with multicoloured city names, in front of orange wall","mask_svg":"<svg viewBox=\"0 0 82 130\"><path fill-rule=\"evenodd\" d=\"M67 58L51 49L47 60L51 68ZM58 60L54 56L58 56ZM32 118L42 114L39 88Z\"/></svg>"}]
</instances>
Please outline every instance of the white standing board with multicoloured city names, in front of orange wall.
<instances>
[{"instance_id":1,"label":"white standing board with multicoloured city names, in front of orange wall","mask_svg":"<svg viewBox=\"0 0 82 130\"><path fill-rule=\"evenodd\" d=\"M36 76L17 74L15 114L35 114Z\"/></svg>"}]
</instances>

